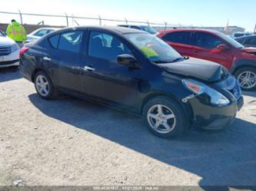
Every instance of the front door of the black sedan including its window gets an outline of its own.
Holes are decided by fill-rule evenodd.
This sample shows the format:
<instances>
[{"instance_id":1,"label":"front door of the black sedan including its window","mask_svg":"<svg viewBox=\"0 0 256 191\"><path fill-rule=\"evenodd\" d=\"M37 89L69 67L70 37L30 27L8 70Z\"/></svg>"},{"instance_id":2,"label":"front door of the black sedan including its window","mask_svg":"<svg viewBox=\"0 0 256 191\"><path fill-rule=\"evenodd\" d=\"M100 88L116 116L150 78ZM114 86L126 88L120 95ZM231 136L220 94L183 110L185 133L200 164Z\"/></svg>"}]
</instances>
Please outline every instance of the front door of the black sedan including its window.
<instances>
[{"instance_id":1,"label":"front door of the black sedan including its window","mask_svg":"<svg viewBox=\"0 0 256 191\"><path fill-rule=\"evenodd\" d=\"M82 91L107 102L134 107L138 99L140 70L116 62L118 54L131 52L115 38L98 31L91 32L89 55L81 58Z\"/></svg>"}]
</instances>

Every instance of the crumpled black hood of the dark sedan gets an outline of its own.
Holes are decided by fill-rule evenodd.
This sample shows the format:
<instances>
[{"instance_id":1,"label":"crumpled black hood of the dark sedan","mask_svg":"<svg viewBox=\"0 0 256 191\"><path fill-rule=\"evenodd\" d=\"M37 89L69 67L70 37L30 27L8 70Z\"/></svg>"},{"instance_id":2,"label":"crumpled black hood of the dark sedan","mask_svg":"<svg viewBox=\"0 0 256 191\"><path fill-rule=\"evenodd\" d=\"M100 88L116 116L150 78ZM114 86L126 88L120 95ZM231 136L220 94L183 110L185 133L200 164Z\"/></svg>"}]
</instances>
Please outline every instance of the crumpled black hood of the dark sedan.
<instances>
[{"instance_id":1,"label":"crumpled black hood of the dark sedan","mask_svg":"<svg viewBox=\"0 0 256 191\"><path fill-rule=\"evenodd\" d=\"M159 64L161 68L171 74L180 74L201 81L214 82L228 77L228 71L220 64L204 61L198 58L178 61L170 64Z\"/></svg>"}]
</instances>

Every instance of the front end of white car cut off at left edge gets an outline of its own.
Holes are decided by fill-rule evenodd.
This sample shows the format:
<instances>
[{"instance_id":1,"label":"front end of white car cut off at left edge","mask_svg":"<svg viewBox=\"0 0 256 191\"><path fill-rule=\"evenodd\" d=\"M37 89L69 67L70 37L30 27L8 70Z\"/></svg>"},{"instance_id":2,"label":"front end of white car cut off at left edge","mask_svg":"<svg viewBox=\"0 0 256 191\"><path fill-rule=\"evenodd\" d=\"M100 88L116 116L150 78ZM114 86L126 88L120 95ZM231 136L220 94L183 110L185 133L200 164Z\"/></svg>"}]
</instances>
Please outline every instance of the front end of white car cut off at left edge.
<instances>
[{"instance_id":1,"label":"front end of white car cut off at left edge","mask_svg":"<svg viewBox=\"0 0 256 191\"><path fill-rule=\"evenodd\" d=\"M0 31L0 68L19 65L18 44Z\"/></svg>"}]
</instances>

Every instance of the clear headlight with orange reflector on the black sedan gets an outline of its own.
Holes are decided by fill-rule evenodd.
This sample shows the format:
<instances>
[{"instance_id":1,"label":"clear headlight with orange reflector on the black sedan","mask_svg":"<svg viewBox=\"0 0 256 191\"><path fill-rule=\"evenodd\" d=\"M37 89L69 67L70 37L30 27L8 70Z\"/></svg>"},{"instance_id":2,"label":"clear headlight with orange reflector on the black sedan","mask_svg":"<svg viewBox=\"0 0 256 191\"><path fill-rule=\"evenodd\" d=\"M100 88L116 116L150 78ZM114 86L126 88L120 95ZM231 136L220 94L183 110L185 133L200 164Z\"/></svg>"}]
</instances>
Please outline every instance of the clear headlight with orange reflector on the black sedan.
<instances>
[{"instance_id":1,"label":"clear headlight with orange reflector on the black sedan","mask_svg":"<svg viewBox=\"0 0 256 191\"><path fill-rule=\"evenodd\" d=\"M223 94L205 84L193 80L182 80L182 82L189 91L192 91L196 95L208 94L211 97L211 104L227 105L230 103L227 97L224 97Z\"/></svg>"}]
</instances>

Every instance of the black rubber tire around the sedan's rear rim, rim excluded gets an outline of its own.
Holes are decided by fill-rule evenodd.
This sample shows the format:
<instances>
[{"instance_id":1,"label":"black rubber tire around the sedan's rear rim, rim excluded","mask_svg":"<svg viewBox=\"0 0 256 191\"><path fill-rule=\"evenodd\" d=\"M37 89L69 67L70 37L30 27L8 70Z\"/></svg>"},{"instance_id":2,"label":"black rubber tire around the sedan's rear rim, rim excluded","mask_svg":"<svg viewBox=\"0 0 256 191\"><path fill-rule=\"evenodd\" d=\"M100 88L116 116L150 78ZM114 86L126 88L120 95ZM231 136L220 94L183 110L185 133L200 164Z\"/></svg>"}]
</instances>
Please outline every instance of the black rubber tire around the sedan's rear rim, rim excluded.
<instances>
[{"instance_id":1,"label":"black rubber tire around the sedan's rear rim, rim excluded","mask_svg":"<svg viewBox=\"0 0 256 191\"><path fill-rule=\"evenodd\" d=\"M44 79L48 81L48 94L42 94L39 90L38 90L38 86L36 84L36 81L38 79L38 77L41 76L41 77L45 77ZM45 73L45 71L38 71L36 74L35 74L35 81L34 81L34 84L35 84L35 90L36 92L38 93L38 95L40 97L42 97L43 99L46 99L46 100L51 100L51 99L54 99L55 97L57 97L58 95L58 91L56 90L54 84L52 83L52 79L48 76L48 74Z\"/></svg>"}]
</instances>

